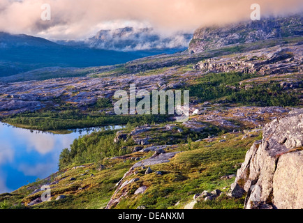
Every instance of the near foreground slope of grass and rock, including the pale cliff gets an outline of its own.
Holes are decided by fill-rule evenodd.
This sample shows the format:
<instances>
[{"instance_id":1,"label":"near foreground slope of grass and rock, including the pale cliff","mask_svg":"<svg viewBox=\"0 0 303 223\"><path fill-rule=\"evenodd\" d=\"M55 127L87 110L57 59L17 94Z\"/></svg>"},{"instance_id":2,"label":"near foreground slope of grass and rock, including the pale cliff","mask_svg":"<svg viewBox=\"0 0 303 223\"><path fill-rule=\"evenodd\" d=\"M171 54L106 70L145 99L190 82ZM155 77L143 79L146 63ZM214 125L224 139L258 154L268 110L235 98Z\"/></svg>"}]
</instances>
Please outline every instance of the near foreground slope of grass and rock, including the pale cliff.
<instances>
[{"instance_id":1,"label":"near foreground slope of grass and rock, including the pale cliff","mask_svg":"<svg viewBox=\"0 0 303 223\"><path fill-rule=\"evenodd\" d=\"M280 134L288 134L285 130L290 128L284 125L289 127L290 119L302 123L302 109L293 111L281 121L275 119L263 129L263 145L269 141L270 151L281 153L272 141L280 140ZM281 125L279 128L284 133L268 136L276 123ZM260 131L232 132L184 145L140 146L140 151L129 155L107 157L80 166L73 164L44 180L10 194L1 194L0 201L6 200L7 207L15 204L13 208L234 209L243 208L244 203L248 205L246 208L302 208L302 130L290 131L287 136L289 141L285 144L288 151L279 155L279 162L275 162L277 157L269 155L264 146L258 146L260 140L256 139L261 139ZM256 142L253 144L253 141ZM276 166L271 166L271 162L277 166L274 174L272 170ZM242 167L237 171L241 163ZM262 167L258 169L256 165ZM263 168L264 165L267 168ZM261 173L255 174L255 169ZM246 172L250 173L249 178ZM236 183L232 184L235 177ZM253 180L253 177L262 179L262 182ZM283 180L286 178L290 181ZM293 181L295 178L298 180ZM256 186L253 185L256 182ZM247 188L253 191L246 193L237 183L241 187L245 184L244 188L250 185ZM264 187L264 183L271 185L271 188ZM51 187L50 202L40 199L43 193L40 187L45 184ZM258 194L260 190L256 190L257 186L263 188L261 194ZM253 206L249 206L249 200L253 201Z\"/></svg>"}]
</instances>

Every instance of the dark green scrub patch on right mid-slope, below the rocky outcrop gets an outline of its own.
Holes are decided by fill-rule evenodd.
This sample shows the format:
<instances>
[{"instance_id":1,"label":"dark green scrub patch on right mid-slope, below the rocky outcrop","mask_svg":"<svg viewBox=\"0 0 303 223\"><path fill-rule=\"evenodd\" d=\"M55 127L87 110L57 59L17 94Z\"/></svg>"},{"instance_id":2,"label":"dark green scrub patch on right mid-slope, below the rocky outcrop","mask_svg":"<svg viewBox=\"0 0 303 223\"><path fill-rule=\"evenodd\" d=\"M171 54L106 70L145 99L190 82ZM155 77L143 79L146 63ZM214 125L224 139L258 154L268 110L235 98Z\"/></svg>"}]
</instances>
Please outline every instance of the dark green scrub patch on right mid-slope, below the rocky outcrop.
<instances>
[{"instance_id":1,"label":"dark green scrub patch on right mid-slope, below the rocky outcrop","mask_svg":"<svg viewBox=\"0 0 303 223\"><path fill-rule=\"evenodd\" d=\"M253 74L237 72L208 74L200 83L189 86L191 96L202 101L216 100L222 97L226 102L255 106L296 106L300 105L294 91L285 91L279 83L263 83L252 88L239 88L239 82L256 77ZM302 88L303 86L300 86Z\"/></svg>"}]
</instances>

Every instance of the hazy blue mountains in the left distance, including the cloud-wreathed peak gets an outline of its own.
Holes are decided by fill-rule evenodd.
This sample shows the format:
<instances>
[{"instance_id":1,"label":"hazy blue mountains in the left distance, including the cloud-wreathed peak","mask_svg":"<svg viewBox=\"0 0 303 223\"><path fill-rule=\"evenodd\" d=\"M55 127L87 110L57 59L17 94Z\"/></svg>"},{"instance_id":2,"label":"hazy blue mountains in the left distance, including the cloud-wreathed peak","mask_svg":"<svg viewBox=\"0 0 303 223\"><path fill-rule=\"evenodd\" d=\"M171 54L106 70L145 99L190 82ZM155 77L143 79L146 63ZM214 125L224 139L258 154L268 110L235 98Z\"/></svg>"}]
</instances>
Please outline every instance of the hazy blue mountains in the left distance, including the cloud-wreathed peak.
<instances>
[{"instance_id":1,"label":"hazy blue mountains in the left distance, including the cloud-wreathed peak","mask_svg":"<svg viewBox=\"0 0 303 223\"><path fill-rule=\"evenodd\" d=\"M85 68L126 63L145 56L186 49L191 36L156 36L152 29L126 27L99 31L84 41L59 40L0 32L0 77L49 67Z\"/></svg>"}]
</instances>

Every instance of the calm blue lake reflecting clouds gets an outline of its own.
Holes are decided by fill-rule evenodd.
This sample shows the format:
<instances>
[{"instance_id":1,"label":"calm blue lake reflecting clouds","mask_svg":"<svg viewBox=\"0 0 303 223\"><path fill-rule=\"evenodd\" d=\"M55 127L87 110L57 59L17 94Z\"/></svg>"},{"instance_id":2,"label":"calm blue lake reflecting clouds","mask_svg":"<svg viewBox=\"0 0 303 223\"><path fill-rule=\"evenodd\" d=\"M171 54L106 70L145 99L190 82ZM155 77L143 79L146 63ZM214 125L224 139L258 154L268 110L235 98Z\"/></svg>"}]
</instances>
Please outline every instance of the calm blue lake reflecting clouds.
<instances>
[{"instance_id":1,"label":"calm blue lake reflecting clouds","mask_svg":"<svg viewBox=\"0 0 303 223\"><path fill-rule=\"evenodd\" d=\"M12 192L23 185L43 179L58 171L59 155L74 139L93 131L120 129L114 125L103 128L73 130L70 134L53 134L15 128L0 123L0 194Z\"/></svg>"}]
</instances>

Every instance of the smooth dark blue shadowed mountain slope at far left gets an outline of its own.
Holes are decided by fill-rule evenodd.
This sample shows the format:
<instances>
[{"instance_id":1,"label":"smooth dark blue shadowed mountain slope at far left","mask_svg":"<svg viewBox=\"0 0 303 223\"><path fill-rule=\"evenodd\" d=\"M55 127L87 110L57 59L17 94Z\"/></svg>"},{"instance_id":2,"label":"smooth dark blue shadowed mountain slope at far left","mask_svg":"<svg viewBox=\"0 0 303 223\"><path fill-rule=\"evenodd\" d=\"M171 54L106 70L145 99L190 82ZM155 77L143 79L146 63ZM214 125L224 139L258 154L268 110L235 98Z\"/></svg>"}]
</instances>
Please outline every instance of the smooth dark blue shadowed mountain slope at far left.
<instances>
[{"instance_id":1,"label":"smooth dark blue shadowed mountain slope at far left","mask_svg":"<svg viewBox=\"0 0 303 223\"><path fill-rule=\"evenodd\" d=\"M0 77L8 77L22 73L22 75L33 76L37 69L45 72L54 68L87 68L96 66L110 66L126 63L144 56L161 54L163 52L176 52L171 49L137 50L132 52L117 52L110 49L91 49L87 45L59 45L43 38L27 35L13 35L0 33ZM85 69L84 69L85 70ZM27 72L27 73L25 73ZM87 72L81 76L87 75ZM57 74L54 77L71 77ZM74 75L79 76L79 75ZM50 78L49 75L41 79ZM13 79L13 77L10 77ZM18 79L18 78L16 78ZM13 79L15 80L15 79Z\"/></svg>"}]
</instances>

